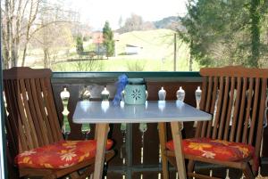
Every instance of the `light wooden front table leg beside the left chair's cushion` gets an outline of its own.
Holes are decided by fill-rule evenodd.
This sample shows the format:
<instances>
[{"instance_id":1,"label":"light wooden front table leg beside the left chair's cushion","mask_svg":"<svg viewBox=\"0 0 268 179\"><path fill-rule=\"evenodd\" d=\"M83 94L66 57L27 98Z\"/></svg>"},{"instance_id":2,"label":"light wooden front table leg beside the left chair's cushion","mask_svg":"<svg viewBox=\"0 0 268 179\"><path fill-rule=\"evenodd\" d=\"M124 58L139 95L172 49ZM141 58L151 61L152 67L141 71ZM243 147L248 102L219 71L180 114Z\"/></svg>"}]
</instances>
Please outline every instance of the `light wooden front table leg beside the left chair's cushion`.
<instances>
[{"instance_id":1,"label":"light wooden front table leg beside the left chair's cushion","mask_svg":"<svg viewBox=\"0 0 268 179\"><path fill-rule=\"evenodd\" d=\"M96 158L95 158L95 170L94 179L102 179L103 169L105 164L105 146L107 143L108 124L96 124L97 136L96 136Z\"/></svg>"}]
</instances>

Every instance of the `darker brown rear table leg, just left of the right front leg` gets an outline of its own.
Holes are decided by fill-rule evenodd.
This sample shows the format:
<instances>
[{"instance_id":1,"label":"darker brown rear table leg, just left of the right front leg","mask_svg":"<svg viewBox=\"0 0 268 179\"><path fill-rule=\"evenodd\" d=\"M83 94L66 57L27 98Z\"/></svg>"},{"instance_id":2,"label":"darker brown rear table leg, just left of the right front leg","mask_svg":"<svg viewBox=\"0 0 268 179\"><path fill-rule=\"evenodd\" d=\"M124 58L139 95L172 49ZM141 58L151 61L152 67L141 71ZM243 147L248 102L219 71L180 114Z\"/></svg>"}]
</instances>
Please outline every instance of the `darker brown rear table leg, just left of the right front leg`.
<instances>
[{"instance_id":1,"label":"darker brown rear table leg, just left of the right front leg","mask_svg":"<svg viewBox=\"0 0 268 179\"><path fill-rule=\"evenodd\" d=\"M166 156L164 155L165 142L167 141L166 123L163 123L163 122L158 123L158 134L159 134L160 149L161 149L163 179L169 179L168 160Z\"/></svg>"}]
</instances>

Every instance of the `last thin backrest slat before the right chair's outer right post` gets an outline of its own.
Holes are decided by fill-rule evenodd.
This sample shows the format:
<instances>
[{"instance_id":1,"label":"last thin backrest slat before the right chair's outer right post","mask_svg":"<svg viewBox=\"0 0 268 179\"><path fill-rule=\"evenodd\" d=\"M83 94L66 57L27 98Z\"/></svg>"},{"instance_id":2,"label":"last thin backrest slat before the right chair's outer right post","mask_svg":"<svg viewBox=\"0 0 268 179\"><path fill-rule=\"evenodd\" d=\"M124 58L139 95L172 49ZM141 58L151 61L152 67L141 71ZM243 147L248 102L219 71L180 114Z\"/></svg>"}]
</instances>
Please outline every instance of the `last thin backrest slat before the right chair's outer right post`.
<instances>
[{"instance_id":1,"label":"last thin backrest slat before the right chair's outer right post","mask_svg":"<svg viewBox=\"0 0 268 179\"><path fill-rule=\"evenodd\" d=\"M253 104L253 110L252 110L252 115L251 115L251 126L249 130L248 144L252 144L253 142L253 135L255 131L256 111L257 111L258 102L260 100L259 90L260 90L260 78L255 78L254 104Z\"/></svg>"}]
</instances>

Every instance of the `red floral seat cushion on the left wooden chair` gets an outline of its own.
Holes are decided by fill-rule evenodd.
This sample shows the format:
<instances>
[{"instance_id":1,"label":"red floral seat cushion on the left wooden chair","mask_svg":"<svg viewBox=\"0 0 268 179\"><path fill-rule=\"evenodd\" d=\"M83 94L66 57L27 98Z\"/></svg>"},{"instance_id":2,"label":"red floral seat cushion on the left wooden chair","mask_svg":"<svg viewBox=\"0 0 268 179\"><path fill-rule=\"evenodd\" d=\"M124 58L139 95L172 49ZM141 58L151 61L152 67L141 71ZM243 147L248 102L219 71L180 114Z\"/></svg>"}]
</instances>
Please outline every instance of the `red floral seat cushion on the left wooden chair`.
<instances>
[{"instance_id":1,"label":"red floral seat cushion on the left wooden chair","mask_svg":"<svg viewBox=\"0 0 268 179\"><path fill-rule=\"evenodd\" d=\"M111 149L112 140L107 140L106 150ZM61 141L31 151L21 152L15 158L19 167L66 168L92 159L96 155L96 141Z\"/></svg>"}]
</instances>

